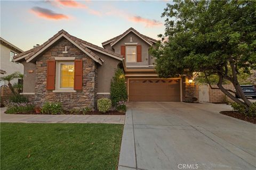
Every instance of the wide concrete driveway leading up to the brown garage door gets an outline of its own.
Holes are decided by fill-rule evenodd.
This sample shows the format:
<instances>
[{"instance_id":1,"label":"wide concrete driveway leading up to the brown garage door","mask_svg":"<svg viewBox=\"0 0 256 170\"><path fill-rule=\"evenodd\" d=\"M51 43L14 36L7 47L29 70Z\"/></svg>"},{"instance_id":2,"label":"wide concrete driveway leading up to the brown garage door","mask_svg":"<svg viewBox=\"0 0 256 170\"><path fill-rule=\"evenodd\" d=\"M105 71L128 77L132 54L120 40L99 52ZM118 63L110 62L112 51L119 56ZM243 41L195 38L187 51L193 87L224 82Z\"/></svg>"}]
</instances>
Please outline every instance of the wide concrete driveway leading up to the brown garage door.
<instances>
[{"instance_id":1,"label":"wide concrete driveway leading up to the brown garage door","mask_svg":"<svg viewBox=\"0 0 256 170\"><path fill-rule=\"evenodd\" d=\"M222 104L132 102L118 169L255 169L256 125Z\"/></svg>"}]
</instances>

